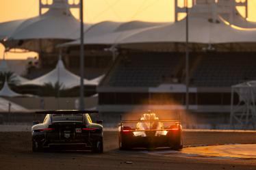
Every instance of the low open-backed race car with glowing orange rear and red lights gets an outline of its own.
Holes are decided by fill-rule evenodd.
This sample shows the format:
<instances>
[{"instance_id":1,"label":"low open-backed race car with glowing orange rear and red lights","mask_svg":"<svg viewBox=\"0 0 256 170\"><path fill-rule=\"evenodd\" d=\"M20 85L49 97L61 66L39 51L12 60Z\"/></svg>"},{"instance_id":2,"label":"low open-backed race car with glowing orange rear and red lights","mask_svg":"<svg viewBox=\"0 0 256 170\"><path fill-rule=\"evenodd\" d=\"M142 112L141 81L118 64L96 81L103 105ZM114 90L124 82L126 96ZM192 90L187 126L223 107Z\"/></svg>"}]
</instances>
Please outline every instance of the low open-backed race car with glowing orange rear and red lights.
<instances>
[{"instance_id":1,"label":"low open-backed race car with glowing orange rear and red lights","mask_svg":"<svg viewBox=\"0 0 256 170\"><path fill-rule=\"evenodd\" d=\"M121 121L118 126L119 149L133 147L170 147L181 150L183 147L182 126L179 120L159 119L148 111L140 120Z\"/></svg>"}]
</instances>

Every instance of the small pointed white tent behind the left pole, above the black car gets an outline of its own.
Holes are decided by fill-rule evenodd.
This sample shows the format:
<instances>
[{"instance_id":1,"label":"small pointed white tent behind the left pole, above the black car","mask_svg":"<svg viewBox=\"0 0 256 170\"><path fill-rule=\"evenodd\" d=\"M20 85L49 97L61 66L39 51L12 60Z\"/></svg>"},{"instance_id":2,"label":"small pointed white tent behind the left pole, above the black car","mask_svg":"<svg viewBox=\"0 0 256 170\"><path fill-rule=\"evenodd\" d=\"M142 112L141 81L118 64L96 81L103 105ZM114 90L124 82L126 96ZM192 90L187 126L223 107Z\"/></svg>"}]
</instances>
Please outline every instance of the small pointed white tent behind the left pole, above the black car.
<instances>
[{"instance_id":1,"label":"small pointed white tent behind the left pole, above the black car","mask_svg":"<svg viewBox=\"0 0 256 170\"><path fill-rule=\"evenodd\" d=\"M98 85L101 79L102 76L96 79L92 79L91 81L84 79L84 85ZM21 83L21 85L42 86L46 83L51 83L52 85L54 85L57 82L62 85L62 89L69 89L80 85L80 77L66 70L62 60L59 60L57 62L57 66L51 72L40 76L37 79Z\"/></svg>"}]
</instances>

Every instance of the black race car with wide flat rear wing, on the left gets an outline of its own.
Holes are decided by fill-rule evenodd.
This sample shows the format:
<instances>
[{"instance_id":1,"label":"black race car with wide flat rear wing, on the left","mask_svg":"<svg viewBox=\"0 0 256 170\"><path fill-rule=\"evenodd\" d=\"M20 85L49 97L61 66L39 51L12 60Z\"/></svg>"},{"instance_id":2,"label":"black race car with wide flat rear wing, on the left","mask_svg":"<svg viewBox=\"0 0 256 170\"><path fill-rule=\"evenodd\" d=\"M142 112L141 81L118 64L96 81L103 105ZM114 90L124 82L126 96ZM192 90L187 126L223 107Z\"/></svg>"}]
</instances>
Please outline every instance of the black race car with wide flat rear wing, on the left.
<instances>
[{"instance_id":1,"label":"black race car with wide flat rear wing, on the left","mask_svg":"<svg viewBox=\"0 0 256 170\"><path fill-rule=\"evenodd\" d=\"M45 147L58 147L103 153L102 121L97 121L97 124L92 123L89 113L97 113L97 111L36 112L46 116L42 124L31 127L32 151L42 151Z\"/></svg>"}]
</instances>

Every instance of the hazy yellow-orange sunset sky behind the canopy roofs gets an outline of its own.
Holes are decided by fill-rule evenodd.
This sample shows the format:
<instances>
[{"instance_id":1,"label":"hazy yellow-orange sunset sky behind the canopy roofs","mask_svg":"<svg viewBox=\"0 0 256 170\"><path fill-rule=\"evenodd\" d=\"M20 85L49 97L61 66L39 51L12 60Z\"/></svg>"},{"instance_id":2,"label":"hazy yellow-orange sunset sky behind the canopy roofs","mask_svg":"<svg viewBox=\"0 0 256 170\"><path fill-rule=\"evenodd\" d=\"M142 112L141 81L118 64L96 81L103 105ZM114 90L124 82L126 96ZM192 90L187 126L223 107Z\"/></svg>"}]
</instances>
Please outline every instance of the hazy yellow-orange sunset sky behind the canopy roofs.
<instances>
[{"instance_id":1,"label":"hazy yellow-orange sunset sky behind the canopy roofs","mask_svg":"<svg viewBox=\"0 0 256 170\"><path fill-rule=\"evenodd\" d=\"M0 23L37 16L38 2L39 0L1 0ZM174 19L173 5L174 0L84 0L84 18L87 23L97 23L103 20L168 22ZM256 21L256 0L248 0L248 5L248 18ZM76 17L78 16L77 10L72 12ZM0 59L3 50L0 44ZM33 55L33 53L29 55L9 53L6 58L26 58Z\"/></svg>"}]
</instances>

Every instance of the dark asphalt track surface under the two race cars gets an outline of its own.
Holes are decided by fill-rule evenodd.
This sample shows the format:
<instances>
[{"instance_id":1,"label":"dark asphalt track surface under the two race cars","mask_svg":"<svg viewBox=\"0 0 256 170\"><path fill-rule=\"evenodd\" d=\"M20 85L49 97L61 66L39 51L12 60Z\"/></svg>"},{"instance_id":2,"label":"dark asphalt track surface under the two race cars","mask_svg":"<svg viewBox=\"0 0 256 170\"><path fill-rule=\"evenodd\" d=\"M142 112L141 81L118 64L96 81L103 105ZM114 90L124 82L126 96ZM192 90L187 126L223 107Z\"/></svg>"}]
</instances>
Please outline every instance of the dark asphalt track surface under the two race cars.
<instances>
[{"instance_id":1,"label":"dark asphalt track surface under the two race cars","mask_svg":"<svg viewBox=\"0 0 256 170\"><path fill-rule=\"evenodd\" d=\"M33 153L30 132L0 132L0 169L256 169L255 158L182 153L199 145L225 147L224 144L230 143L256 143L256 132L183 132L185 149L181 152L167 149L120 151L117 132L104 132L104 137L104 154L77 151Z\"/></svg>"}]
</instances>

